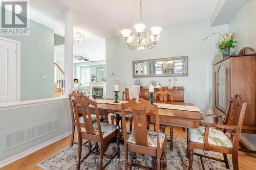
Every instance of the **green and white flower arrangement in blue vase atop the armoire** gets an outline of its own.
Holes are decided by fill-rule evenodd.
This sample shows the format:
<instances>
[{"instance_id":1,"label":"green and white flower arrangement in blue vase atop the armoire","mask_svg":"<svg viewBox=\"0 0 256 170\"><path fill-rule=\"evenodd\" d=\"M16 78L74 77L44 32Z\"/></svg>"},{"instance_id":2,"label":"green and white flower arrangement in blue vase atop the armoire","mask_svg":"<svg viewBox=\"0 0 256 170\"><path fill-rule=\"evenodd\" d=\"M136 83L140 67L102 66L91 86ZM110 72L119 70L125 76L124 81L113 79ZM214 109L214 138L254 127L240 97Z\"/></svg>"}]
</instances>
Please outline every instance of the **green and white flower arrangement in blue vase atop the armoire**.
<instances>
[{"instance_id":1,"label":"green and white flower arrangement in blue vase atop the armoire","mask_svg":"<svg viewBox=\"0 0 256 170\"><path fill-rule=\"evenodd\" d=\"M237 32L228 32L228 33L212 33L206 38L204 38L203 42L209 38L212 35L220 35L220 39L217 42L219 51L222 52L223 58L228 57L230 55L230 48L234 48L236 45L234 43L237 43L237 41L234 40L234 37L236 37Z\"/></svg>"}]
</instances>

